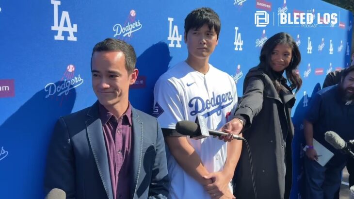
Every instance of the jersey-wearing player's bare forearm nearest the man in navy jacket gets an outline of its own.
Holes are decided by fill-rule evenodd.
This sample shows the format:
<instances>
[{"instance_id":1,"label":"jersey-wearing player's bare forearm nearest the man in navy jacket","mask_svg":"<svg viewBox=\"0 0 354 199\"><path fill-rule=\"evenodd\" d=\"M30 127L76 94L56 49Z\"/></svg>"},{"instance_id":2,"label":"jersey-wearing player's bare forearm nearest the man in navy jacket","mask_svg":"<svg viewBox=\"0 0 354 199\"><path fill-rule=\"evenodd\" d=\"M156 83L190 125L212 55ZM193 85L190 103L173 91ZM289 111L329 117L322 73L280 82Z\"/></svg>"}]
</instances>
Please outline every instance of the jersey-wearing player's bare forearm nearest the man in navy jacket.
<instances>
[{"instance_id":1,"label":"jersey-wearing player's bare forearm nearest the man in navy jacket","mask_svg":"<svg viewBox=\"0 0 354 199\"><path fill-rule=\"evenodd\" d=\"M209 171L204 167L199 155L189 144L186 137L167 136L166 143L179 166L194 180L203 185L212 183L210 179L203 178L203 176L209 174Z\"/></svg>"}]
</instances>

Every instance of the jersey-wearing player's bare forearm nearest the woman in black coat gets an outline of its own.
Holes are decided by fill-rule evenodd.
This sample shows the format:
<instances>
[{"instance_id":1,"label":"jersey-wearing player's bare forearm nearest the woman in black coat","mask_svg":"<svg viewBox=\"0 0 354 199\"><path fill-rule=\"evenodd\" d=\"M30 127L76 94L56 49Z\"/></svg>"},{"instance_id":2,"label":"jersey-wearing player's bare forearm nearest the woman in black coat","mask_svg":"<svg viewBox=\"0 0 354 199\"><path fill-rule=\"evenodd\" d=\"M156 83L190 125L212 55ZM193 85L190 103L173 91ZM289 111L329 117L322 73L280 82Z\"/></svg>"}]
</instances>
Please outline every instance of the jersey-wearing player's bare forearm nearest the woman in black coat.
<instances>
[{"instance_id":1,"label":"jersey-wearing player's bare forearm nearest the woman in black coat","mask_svg":"<svg viewBox=\"0 0 354 199\"><path fill-rule=\"evenodd\" d=\"M242 133L239 134L242 136ZM239 162L242 149L242 140L232 140L227 144L227 158L223 173L225 173L230 180L232 179L237 163Z\"/></svg>"}]
</instances>

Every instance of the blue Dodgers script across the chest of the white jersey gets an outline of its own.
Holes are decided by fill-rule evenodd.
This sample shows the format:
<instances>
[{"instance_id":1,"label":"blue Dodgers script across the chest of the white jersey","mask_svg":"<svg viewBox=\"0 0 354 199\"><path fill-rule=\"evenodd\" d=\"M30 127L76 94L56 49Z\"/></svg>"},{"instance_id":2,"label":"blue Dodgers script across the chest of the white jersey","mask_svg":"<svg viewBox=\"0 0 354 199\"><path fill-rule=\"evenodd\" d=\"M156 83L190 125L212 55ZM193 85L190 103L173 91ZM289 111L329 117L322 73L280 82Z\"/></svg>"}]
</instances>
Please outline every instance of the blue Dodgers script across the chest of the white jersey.
<instances>
[{"instance_id":1,"label":"blue Dodgers script across the chest of the white jersey","mask_svg":"<svg viewBox=\"0 0 354 199\"><path fill-rule=\"evenodd\" d=\"M215 96L214 92L210 99L202 99L201 97L194 97L188 102L188 106L193 108L190 115L195 116L200 113L204 113L202 116L208 117L216 113L218 116L221 115L222 110L233 102L233 97L231 92L227 92L221 95Z\"/></svg>"}]
</instances>

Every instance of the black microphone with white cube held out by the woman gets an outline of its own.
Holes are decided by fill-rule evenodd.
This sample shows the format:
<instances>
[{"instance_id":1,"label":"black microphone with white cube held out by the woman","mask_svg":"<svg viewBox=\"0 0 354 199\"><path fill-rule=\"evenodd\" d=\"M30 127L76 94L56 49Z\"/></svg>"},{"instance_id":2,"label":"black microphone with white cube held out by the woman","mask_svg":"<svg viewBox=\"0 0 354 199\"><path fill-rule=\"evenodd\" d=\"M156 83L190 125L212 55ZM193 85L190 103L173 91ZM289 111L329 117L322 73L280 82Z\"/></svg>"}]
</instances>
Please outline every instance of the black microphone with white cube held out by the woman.
<instances>
[{"instance_id":1,"label":"black microphone with white cube held out by the woman","mask_svg":"<svg viewBox=\"0 0 354 199\"><path fill-rule=\"evenodd\" d=\"M200 119L199 119L199 122L200 122ZM228 135L228 133L214 131L214 130L208 130L207 128L205 128L203 126L204 125L200 125L200 124L194 123L192 121L183 120L183 121L177 122L176 131L178 133L183 134L183 135L189 135L190 138L192 138L192 139L202 139L205 137L209 137L210 135L216 135L216 136ZM235 134L232 134L232 137L237 140L244 140L243 137L240 137Z\"/></svg>"}]
</instances>

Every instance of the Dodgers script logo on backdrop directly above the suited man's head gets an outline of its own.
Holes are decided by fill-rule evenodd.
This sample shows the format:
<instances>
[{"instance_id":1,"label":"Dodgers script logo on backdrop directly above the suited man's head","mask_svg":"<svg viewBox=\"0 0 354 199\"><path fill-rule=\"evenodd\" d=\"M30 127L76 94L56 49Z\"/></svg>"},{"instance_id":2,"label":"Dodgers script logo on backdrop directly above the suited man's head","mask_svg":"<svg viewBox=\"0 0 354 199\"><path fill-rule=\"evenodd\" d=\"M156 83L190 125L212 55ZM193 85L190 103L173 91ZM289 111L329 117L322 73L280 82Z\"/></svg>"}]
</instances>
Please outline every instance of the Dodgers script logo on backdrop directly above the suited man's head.
<instances>
[{"instance_id":1,"label":"Dodgers script logo on backdrop directly above the suited man's head","mask_svg":"<svg viewBox=\"0 0 354 199\"><path fill-rule=\"evenodd\" d=\"M136 20L135 17L135 10L130 10L130 13L123 25L117 23L113 26L113 31L115 32L113 37L118 36L121 40L129 41L132 37L132 33L143 28L140 20Z\"/></svg>"}]
</instances>

